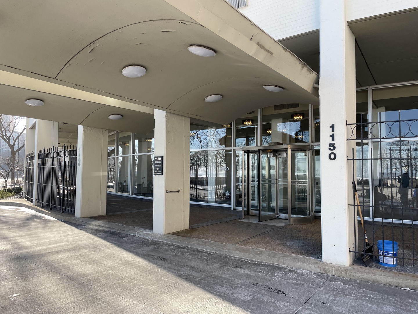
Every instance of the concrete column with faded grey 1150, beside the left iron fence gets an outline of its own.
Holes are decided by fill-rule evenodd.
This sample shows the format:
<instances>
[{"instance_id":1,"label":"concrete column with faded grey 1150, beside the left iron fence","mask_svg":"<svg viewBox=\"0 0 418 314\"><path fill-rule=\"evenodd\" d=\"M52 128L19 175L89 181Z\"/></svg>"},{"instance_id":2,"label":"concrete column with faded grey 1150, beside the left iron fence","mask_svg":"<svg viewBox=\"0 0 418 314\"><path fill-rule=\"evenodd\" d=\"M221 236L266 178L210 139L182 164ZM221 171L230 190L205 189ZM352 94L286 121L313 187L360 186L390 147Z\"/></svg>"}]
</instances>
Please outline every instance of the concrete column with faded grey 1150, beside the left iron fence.
<instances>
[{"instance_id":1,"label":"concrete column with faded grey 1150, beside the left iron fence","mask_svg":"<svg viewBox=\"0 0 418 314\"><path fill-rule=\"evenodd\" d=\"M78 126L76 217L106 215L107 130Z\"/></svg>"}]
</instances>

